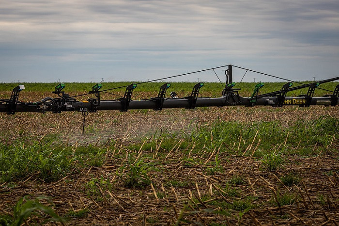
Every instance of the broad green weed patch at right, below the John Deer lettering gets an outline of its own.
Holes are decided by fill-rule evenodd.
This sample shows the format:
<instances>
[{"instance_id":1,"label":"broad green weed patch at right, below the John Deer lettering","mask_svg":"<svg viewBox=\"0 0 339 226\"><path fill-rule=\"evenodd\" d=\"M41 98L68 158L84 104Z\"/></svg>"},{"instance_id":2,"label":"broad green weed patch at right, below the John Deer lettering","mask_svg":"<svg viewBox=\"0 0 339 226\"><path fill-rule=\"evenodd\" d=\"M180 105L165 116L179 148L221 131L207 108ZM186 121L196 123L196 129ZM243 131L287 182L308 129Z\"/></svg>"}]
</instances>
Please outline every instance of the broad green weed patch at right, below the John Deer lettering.
<instances>
[{"instance_id":1,"label":"broad green weed patch at right, below the John Deer lettering","mask_svg":"<svg viewBox=\"0 0 339 226\"><path fill-rule=\"evenodd\" d=\"M239 150L245 150L258 132L256 140L262 139L262 141L254 157L271 158L272 161L277 163L276 160L279 158L273 158L273 155L269 155L273 144L284 144L286 142L286 146L280 147L280 153L313 155L319 153L319 150L313 148L315 144L327 146L331 144L333 137L339 139L338 128L339 119L329 116L321 116L311 121L296 121L289 127L279 121L246 124L218 120L212 125L197 127L197 130L191 134L191 141L196 143L195 150L205 146L206 150L211 152L215 147L220 147L220 153L234 154L236 150L229 147L238 144ZM297 146L297 149L291 148ZM250 153L248 152L248 154ZM277 157L280 157L280 155L278 154ZM274 164L271 166L272 169L275 168Z\"/></svg>"}]
</instances>

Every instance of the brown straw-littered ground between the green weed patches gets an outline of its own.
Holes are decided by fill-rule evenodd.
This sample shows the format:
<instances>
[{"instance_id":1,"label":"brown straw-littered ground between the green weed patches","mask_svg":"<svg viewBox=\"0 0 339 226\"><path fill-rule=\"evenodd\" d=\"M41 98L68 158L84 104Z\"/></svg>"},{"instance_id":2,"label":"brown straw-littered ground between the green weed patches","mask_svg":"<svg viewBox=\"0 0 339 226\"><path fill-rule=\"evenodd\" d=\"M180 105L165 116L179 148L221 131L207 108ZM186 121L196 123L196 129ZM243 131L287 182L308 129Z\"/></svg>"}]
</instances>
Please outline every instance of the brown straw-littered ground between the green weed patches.
<instances>
[{"instance_id":1,"label":"brown straw-littered ground between the green weed patches","mask_svg":"<svg viewBox=\"0 0 339 226\"><path fill-rule=\"evenodd\" d=\"M83 137L80 113L1 114L0 128L6 136L2 137L3 143L53 136L64 145L92 144L108 148L111 141L119 145L107 149L102 166L88 165L58 181L46 182L36 175L27 175L15 181L13 187L6 182L1 184L0 214L13 215L17 200L31 195L48 197L60 216L68 214L64 225L338 225L339 151L289 156L276 171L262 170L262 161L253 155L219 155L223 171L208 174L206 166L215 161L217 150L202 148L198 153L187 154L175 148L161 148L159 144L154 150L143 150L141 146L136 151L139 158L152 156L154 161L145 162L161 169L150 172L150 185L126 188L116 174L122 162L127 161L127 154L121 155L126 151L124 148L139 144L145 137L152 139L154 134L190 133L216 120L246 123L279 120L288 126L296 120L311 120L319 115L338 118L339 109L233 107L90 113ZM257 144L253 142L253 148L248 151L252 152ZM337 140L331 145L332 150L339 150ZM287 174L298 175L301 180L286 186L280 178ZM95 183L90 188L93 178L108 182ZM95 194L89 195L91 189ZM284 198L290 202L284 203ZM25 224L33 221L34 217Z\"/></svg>"}]
</instances>

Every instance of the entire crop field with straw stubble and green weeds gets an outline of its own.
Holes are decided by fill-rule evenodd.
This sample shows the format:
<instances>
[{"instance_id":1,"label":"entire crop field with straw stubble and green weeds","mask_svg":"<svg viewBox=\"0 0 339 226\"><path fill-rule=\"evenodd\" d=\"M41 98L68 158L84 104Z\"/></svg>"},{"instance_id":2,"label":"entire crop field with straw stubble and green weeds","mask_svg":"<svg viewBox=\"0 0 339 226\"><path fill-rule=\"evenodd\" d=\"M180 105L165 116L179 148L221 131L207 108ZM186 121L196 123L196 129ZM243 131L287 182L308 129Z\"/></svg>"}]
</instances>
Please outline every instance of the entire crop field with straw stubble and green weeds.
<instances>
[{"instance_id":1,"label":"entire crop field with straw stubble and green weeds","mask_svg":"<svg viewBox=\"0 0 339 226\"><path fill-rule=\"evenodd\" d=\"M140 84L133 98L154 97L161 84ZM25 84L19 99L52 97L55 85ZM184 97L193 85L168 92ZM0 84L0 98L14 86ZM248 96L254 83L240 87ZM201 96L221 89L206 83ZM0 225L339 224L338 106L106 111L86 117L85 136L82 120L77 112L0 114Z\"/></svg>"}]
</instances>

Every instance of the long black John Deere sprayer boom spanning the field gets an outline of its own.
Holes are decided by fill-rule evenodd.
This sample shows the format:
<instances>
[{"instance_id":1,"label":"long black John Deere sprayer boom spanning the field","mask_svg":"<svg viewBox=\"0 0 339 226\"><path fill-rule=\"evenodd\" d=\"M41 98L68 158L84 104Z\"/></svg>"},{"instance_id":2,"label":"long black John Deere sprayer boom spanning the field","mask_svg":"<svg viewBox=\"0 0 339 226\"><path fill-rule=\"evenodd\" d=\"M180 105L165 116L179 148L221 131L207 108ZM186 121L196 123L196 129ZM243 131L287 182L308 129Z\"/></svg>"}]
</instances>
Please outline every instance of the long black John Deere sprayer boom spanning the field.
<instances>
[{"instance_id":1,"label":"long black John Deere sprayer boom spanning the field","mask_svg":"<svg viewBox=\"0 0 339 226\"><path fill-rule=\"evenodd\" d=\"M14 114L15 112L96 112L101 110L119 110L121 112L126 112L129 109L154 109L155 111L161 111L164 108L194 109L195 107L222 107L234 105L247 107L253 107L254 105L268 105L272 107L296 105L309 107L311 105L336 106L339 102L339 85L336 86L333 94L324 97L313 97L316 87L325 82L339 80L339 77L296 87L291 87L293 83L288 82L282 86L280 91L262 95L258 95L259 88L262 87L262 84L259 83L260 85L258 84L258 87L256 86L252 97L241 97L239 95L240 89L233 88L235 82L232 81L231 65L229 65L229 68L225 73L227 73L228 82L222 91L222 97L218 98L198 97L200 88L203 86L203 83L199 82L193 87L192 93L188 97L176 98L176 95L172 94L170 98L165 98L166 90L170 87L170 83L165 83L160 87L157 97L146 100L132 100L132 92L137 87L137 84L132 83L126 87L125 94L122 98L117 100L101 100L100 92L102 91L99 91L99 89L102 85L98 83L92 87L92 91L89 91L89 94L94 94L96 98L90 98L88 101L77 101L75 98L70 98L68 94L61 91L65 85L60 83L55 87L55 91L52 92L53 94L57 94L60 98L46 97L38 102L27 103L18 101L19 92L24 89L24 86L20 85L13 89L10 99L0 103L0 112L7 112L8 114ZM286 94L289 91L307 87L308 93L306 95L286 97Z\"/></svg>"}]
</instances>

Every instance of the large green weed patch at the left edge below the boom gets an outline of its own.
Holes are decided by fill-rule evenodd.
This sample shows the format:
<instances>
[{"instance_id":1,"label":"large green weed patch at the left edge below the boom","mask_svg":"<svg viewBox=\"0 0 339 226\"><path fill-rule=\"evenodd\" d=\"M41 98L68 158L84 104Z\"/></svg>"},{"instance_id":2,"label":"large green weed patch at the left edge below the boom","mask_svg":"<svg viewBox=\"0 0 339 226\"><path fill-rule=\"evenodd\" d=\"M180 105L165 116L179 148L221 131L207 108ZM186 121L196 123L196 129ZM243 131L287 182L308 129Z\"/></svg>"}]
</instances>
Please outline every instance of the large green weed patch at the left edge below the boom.
<instances>
[{"instance_id":1,"label":"large green weed patch at the left edge below the boom","mask_svg":"<svg viewBox=\"0 0 339 226\"><path fill-rule=\"evenodd\" d=\"M51 142L0 144L0 181L24 178L35 172L45 181L56 180L71 171L74 161L69 148L53 148Z\"/></svg>"}]
</instances>

